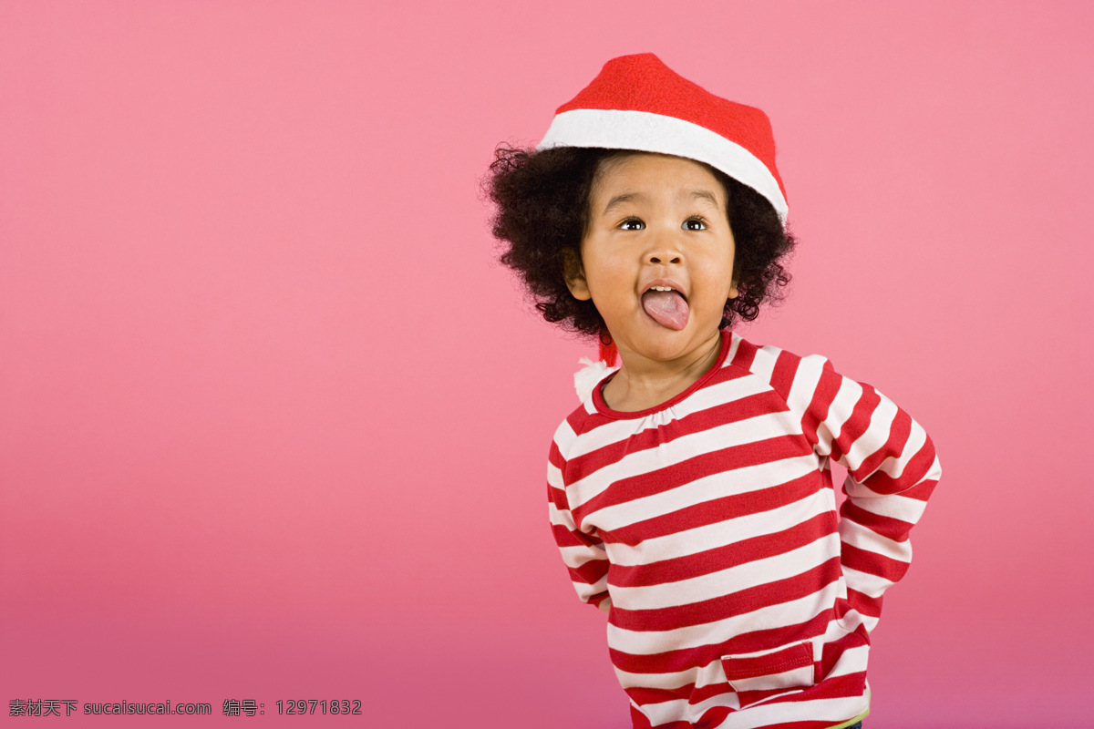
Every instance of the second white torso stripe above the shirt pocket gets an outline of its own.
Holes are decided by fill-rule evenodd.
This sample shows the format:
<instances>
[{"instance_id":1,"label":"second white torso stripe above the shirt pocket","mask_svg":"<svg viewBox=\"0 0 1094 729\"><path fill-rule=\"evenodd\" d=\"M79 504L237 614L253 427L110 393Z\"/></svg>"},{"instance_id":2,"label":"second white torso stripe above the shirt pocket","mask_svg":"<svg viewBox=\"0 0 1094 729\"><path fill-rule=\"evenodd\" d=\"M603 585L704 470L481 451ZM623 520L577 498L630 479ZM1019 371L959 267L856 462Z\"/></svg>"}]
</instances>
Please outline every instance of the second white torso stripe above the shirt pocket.
<instances>
[{"instance_id":1,"label":"second white torso stripe above the shirt pocket","mask_svg":"<svg viewBox=\"0 0 1094 729\"><path fill-rule=\"evenodd\" d=\"M661 610L724 597L740 590L793 577L839 554L839 536L675 583L642 587L612 586L612 603L625 610Z\"/></svg>"}]
</instances>

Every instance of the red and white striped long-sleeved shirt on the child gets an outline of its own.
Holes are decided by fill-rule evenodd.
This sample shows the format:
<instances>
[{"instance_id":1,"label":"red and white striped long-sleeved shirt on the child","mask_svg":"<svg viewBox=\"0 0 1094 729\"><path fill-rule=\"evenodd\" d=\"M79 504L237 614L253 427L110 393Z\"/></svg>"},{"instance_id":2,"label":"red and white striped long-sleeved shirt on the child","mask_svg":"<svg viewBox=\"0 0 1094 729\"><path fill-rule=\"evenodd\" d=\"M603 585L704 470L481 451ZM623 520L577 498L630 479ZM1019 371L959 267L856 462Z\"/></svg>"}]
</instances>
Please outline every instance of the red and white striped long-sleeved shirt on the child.
<instances>
[{"instance_id":1,"label":"red and white striped long-sleeved shirt on the child","mask_svg":"<svg viewBox=\"0 0 1094 729\"><path fill-rule=\"evenodd\" d=\"M829 458L848 469L839 516ZM939 473L923 430L872 387L729 331L656 408L616 412L594 388L555 434L550 520L579 597L610 600L635 727L864 715L866 631Z\"/></svg>"}]
</instances>

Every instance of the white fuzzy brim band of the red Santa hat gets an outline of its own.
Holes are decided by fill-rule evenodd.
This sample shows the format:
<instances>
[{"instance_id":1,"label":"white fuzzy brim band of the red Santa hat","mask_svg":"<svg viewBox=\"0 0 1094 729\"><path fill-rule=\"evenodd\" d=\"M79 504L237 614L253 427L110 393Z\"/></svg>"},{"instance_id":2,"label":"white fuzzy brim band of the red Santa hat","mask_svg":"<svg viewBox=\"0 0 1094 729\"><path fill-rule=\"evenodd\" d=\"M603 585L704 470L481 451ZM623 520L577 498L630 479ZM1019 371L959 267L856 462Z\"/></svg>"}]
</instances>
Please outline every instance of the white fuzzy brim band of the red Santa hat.
<instances>
[{"instance_id":1,"label":"white fuzzy brim band of the red Santa hat","mask_svg":"<svg viewBox=\"0 0 1094 729\"><path fill-rule=\"evenodd\" d=\"M753 188L787 222L787 199L767 165L718 132L676 117L620 109L571 109L558 114L536 150L593 146L674 154L706 162Z\"/></svg>"}]
</instances>

